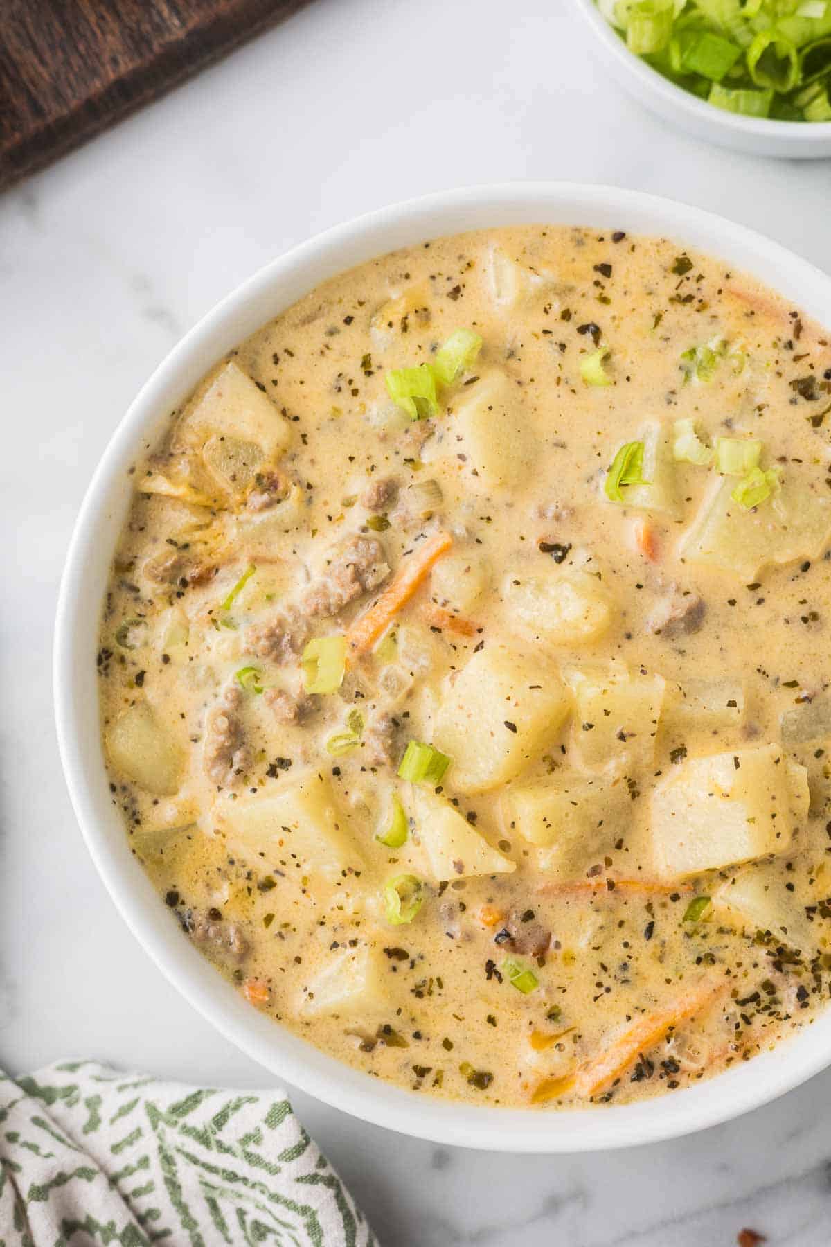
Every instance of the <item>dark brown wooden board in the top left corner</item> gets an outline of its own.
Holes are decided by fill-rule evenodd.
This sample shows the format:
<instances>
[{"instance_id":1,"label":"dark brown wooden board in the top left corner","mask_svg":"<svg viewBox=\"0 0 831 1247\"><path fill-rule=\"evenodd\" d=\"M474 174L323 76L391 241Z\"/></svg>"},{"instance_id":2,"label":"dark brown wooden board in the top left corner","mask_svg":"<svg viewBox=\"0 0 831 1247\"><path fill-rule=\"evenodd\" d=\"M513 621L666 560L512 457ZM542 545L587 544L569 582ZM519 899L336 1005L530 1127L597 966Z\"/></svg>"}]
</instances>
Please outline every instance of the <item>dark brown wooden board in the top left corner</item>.
<instances>
[{"instance_id":1,"label":"dark brown wooden board in the top left corner","mask_svg":"<svg viewBox=\"0 0 831 1247\"><path fill-rule=\"evenodd\" d=\"M304 0L0 0L0 190Z\"/></svg>"}]
</instances>

